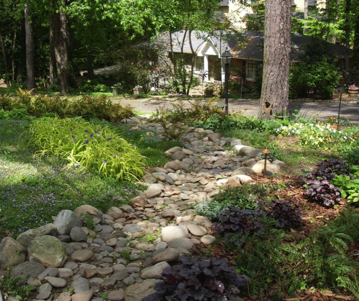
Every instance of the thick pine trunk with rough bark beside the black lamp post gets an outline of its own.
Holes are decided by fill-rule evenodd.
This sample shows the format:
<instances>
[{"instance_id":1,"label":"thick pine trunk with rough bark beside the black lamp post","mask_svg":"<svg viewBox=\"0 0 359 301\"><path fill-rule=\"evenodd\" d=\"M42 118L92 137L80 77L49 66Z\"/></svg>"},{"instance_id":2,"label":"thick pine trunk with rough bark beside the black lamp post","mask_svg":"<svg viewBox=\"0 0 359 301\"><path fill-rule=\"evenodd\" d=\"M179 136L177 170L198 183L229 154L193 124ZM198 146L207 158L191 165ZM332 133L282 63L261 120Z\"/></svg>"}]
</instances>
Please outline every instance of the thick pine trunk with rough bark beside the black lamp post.
<instances>
[{"instance_id":1,"label":"thick pine trunk with rough bark beside the black lamp post","mask_svg":"<svg viewBox=\"0 0 359 301\"><path fill-rule=\"evenodd\" d=\"M264 64L260 117L268 119L272 114L288 106L290 66L290 0L265 2Z\"/></svg>"}]
</instances>

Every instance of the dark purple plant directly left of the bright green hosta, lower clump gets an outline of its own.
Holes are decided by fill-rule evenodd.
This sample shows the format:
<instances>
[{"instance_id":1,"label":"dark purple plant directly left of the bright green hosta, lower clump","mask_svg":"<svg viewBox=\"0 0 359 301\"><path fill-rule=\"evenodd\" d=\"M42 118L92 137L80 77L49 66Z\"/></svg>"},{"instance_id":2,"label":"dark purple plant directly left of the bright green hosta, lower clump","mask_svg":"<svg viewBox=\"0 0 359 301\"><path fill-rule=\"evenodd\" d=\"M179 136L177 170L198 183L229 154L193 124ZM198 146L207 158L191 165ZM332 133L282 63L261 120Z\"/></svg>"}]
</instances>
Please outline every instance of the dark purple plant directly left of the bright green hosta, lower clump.
<instances>
[{"instance_id":1,"label":"dark purple plant directly left of the bright green hosta, lower clump","mask_svg":"<svg viewBox=\"0 0 359 301\"><path fill-rule=\"evenodd\" d=\"M330 207L340 200L340 190L328 180L309 180L306 184L305 196L311 201Z\"/></svg>"}]
</instances>

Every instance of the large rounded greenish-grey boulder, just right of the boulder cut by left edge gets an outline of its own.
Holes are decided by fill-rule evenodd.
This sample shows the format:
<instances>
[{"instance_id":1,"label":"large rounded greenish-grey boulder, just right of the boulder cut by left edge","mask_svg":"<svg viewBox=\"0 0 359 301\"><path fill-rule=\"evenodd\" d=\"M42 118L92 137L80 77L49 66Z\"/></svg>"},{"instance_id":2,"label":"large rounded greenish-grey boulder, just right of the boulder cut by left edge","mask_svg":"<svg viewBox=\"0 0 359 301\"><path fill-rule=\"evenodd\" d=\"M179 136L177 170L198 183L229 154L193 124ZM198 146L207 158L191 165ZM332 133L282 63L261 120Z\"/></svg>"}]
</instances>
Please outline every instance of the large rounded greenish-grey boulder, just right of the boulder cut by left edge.
<instances>
[{"instance_id":1,"label":"large rounded greenish-grey boulder, just right of the boulder cut by left edge","mask_svg":"<svg viewBox=\"0 0 359 301\"><path fill-rule=\"evenodd\" d=\"M28 248L29 260L44 266L62 267L67 259L60 239L50 235L35 237Z\"/></svg>"}]
</instances>

